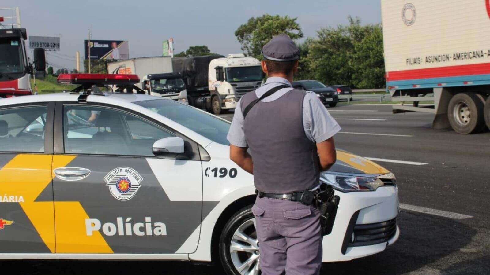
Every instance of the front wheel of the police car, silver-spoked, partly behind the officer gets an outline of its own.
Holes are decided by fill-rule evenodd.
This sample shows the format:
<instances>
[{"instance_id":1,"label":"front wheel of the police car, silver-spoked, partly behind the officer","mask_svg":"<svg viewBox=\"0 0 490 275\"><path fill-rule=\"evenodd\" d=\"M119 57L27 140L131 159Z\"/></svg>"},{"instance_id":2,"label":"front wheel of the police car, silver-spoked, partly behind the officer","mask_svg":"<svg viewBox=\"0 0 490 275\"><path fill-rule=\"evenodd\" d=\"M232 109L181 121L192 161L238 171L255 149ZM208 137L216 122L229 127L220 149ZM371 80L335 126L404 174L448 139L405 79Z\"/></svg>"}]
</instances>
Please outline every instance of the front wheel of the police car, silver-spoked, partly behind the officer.
<instances>
[{"instance_id":1,"label":"front wheel of the police car, silver-spoked, partly behind the officer","mask_svg":"<svg viewBox=\"0 0 490 275\"><path fill-rule=\"evenodd\" d=\"M259 269L259 250L257 233L255 231L255 216L252 213L252 205L245 206L238 210L228 220L221 232L220 237L220 259L224 271L228 275L241 275L241 274L260 274ZM241 232L246 236L239 238L236 233ZM237 244L237 249L231 251L232 241ZM249 264L243 265L246 260L250 261ZM239 267L244 268L239 271Z\"/></svg>"}]
</instances>

